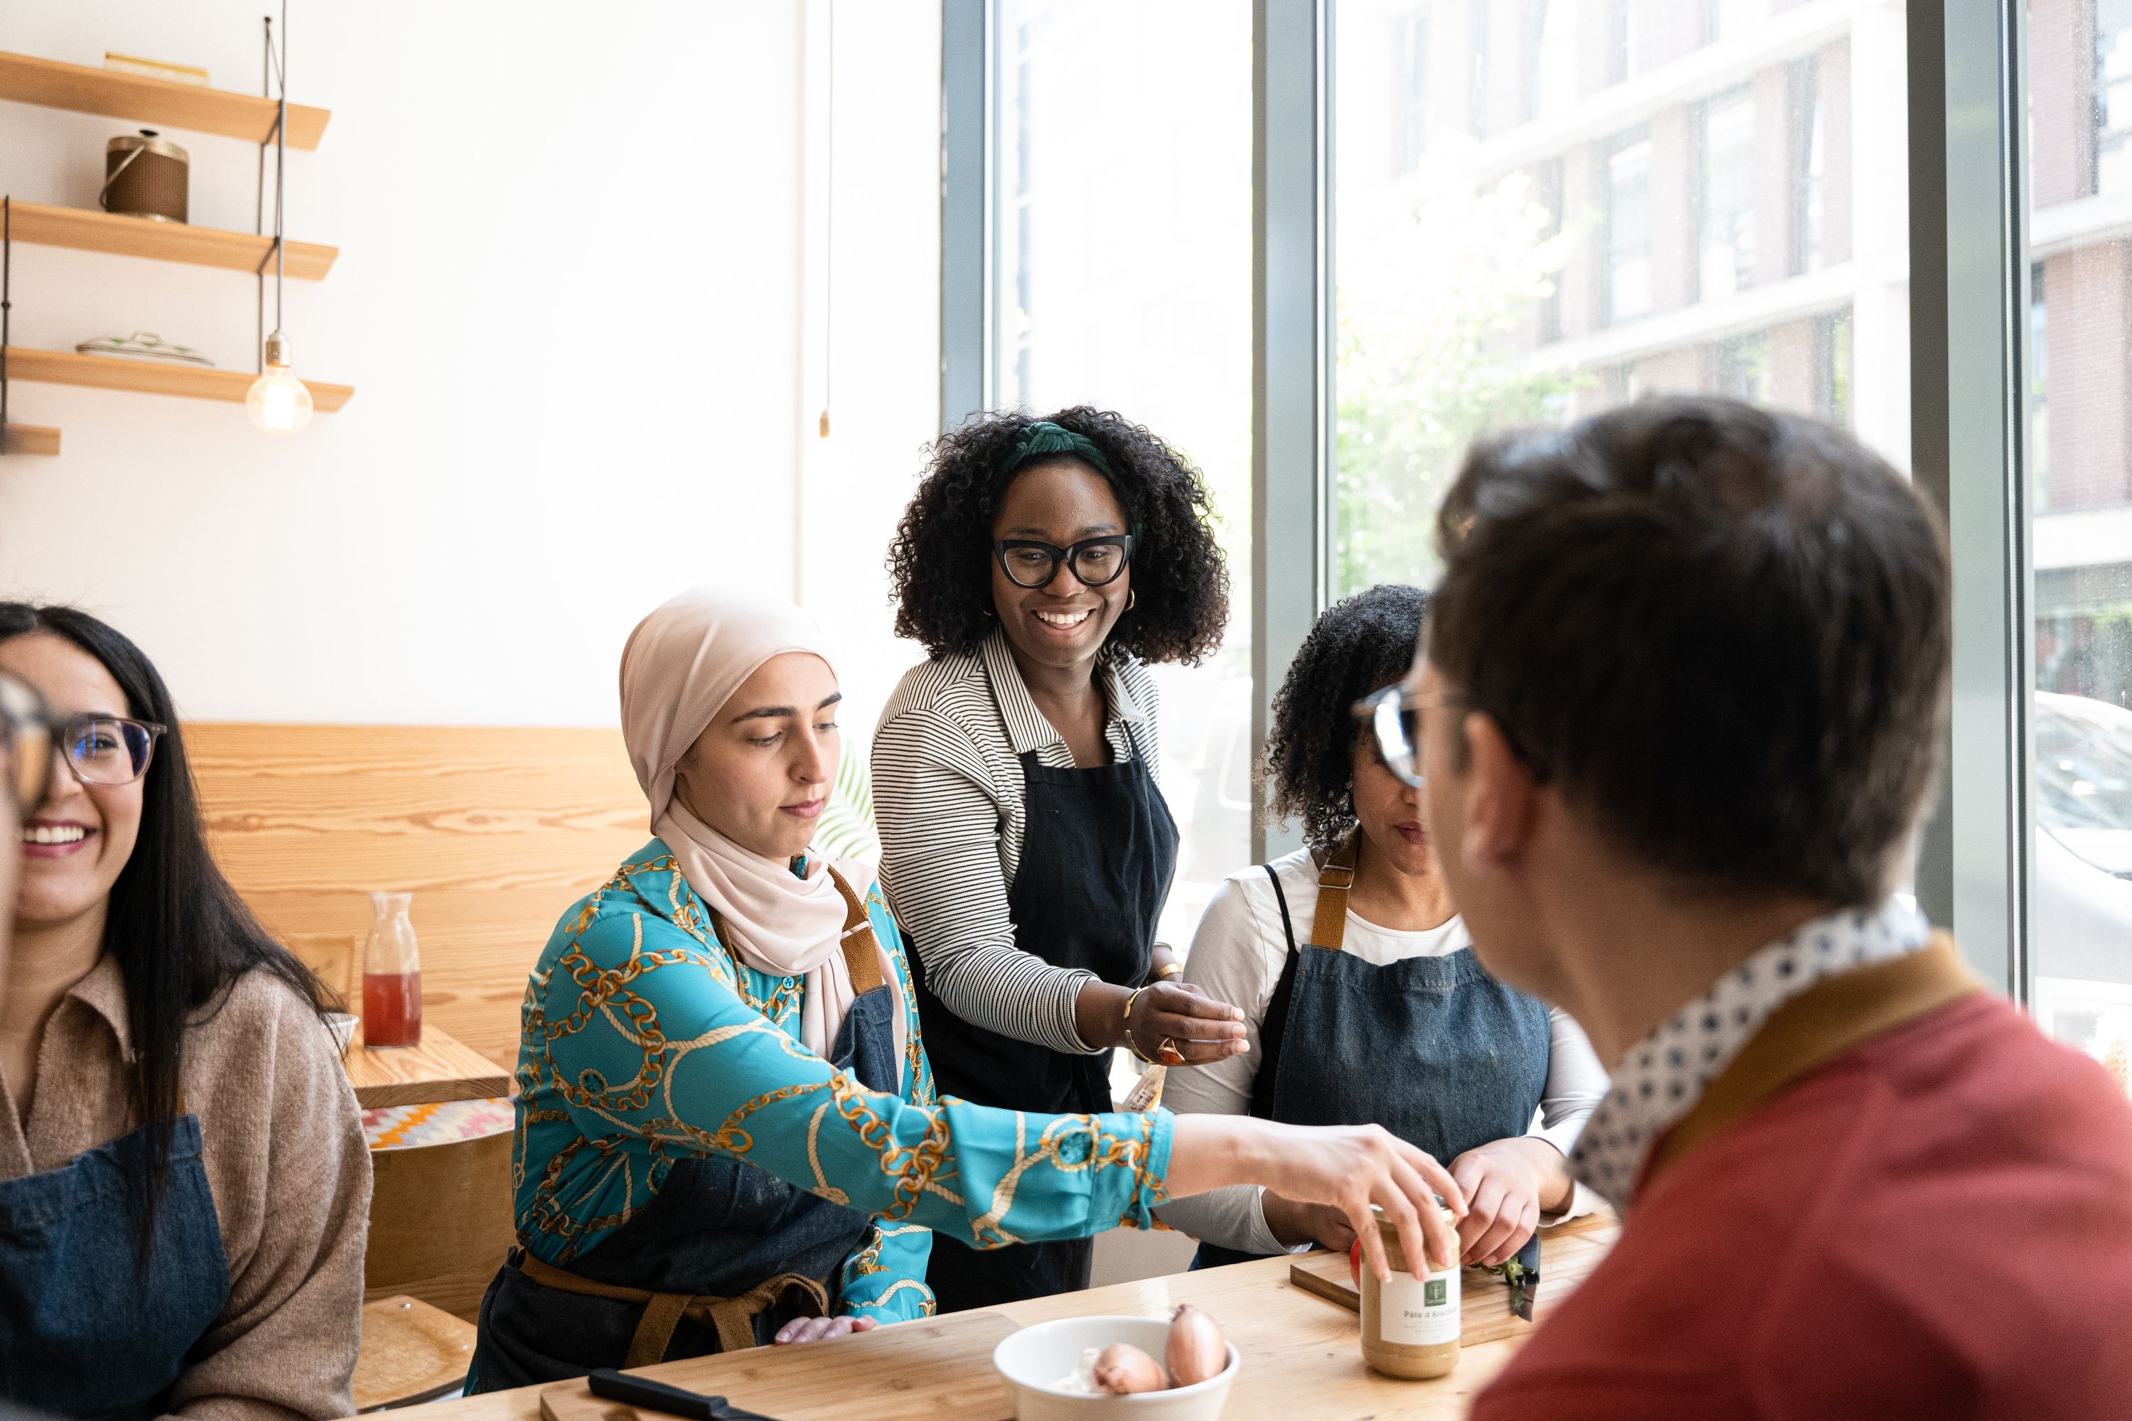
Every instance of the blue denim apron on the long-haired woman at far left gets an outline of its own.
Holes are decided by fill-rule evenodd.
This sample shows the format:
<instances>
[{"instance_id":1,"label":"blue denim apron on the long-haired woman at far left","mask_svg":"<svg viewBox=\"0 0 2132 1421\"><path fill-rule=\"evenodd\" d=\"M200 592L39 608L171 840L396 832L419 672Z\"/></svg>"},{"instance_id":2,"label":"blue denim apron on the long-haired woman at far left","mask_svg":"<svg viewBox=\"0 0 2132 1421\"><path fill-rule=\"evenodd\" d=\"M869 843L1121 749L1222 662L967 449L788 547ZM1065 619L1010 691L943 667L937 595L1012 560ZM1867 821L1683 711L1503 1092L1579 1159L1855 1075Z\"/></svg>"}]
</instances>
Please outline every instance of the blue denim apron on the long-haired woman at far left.
<instances>
[{"instance_id":1,"label":"blue denim apron on the long-haired woman at far left","mask_svg":"<svg viewBox=\"0 0 2132 1421\"><path fill-rule=\"evenodd\" d=\"M141 1127L0 1185L0 1400L55 1417L156 1417L230 1297L200 1116L171 1125L143 1268Z\"/></svg>"}]
</instances>

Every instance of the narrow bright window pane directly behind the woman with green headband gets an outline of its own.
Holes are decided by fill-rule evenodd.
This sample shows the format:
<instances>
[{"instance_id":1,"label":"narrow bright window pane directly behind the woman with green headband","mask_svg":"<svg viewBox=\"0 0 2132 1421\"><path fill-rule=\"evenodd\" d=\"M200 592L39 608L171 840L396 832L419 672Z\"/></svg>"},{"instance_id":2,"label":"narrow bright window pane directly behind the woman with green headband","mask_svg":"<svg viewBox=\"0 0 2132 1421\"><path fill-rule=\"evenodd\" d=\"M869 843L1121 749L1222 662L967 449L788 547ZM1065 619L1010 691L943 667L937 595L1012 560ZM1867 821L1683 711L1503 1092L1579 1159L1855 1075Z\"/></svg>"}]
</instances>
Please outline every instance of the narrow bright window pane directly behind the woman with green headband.
<instances>
[{"instance_id":1,"label":"narrow bright window pane directly behind the woman with green headband","mask_svg":"<svg viewBox=\"0 0 2132 1421\"><path fill-rule=\"evenodd\" d=\"M1207 475L1228 550L1228 641L1156 669L1183 831L1160 933L1183 948L1251 852L1251 6L998 0L996 17L994 401L1145 424ZM1409 28L1388 68L1420 85L1428 53ZM1384 115L1386 175L1420 160L1422 113Z\"/></svg>"}]
</instances>

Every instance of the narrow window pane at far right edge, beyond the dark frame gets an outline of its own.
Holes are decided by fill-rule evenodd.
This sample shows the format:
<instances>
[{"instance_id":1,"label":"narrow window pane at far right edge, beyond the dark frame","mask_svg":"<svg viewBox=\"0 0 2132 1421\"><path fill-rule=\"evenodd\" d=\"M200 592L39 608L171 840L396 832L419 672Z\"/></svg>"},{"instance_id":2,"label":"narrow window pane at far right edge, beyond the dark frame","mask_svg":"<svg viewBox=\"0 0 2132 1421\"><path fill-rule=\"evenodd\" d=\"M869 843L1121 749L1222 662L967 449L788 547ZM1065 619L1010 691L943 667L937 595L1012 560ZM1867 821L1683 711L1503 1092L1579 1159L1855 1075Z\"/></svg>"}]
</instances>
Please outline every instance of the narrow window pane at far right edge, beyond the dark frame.
<instances>
[{"instance_id":1,"label":"narrow window pane at far right edge, beyond the dark frame","mask_svg":"<svg viewBox=\"0 0 2132 1421\"><path fill-rule=\"evenodd\" d=\"M2132 4L2032 0L2036 1020L2132 1052ZM2128 1084L2132 1089L2132 1084Z\"/></svg>"}]
</instances>

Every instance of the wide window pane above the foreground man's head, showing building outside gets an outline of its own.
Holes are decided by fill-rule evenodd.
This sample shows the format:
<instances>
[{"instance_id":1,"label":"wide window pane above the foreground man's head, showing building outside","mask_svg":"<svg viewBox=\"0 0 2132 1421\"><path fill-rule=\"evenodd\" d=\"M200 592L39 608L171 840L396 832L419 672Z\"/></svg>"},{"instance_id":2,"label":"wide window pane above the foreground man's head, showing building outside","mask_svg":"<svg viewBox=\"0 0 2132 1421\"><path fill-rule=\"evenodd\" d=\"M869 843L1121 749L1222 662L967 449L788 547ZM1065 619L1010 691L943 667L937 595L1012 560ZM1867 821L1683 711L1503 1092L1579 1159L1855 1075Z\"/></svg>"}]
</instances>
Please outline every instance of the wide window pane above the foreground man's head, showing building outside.
<instances>
[{"instance_id":1,"label":"wide window pane above the foreground man's head, showing building outside","mask_svg":"<svg viewBox=\"0 0 2132 1421\"><path fill-rule=\"evenodd\" d=\"M1341 592L1435 577L1473 437L1644 394L1816 413L1908 467L1904 13L1816 4L1802 38L1795 9L1337 0ZM1416 28L1424 62L1386 64ZM1390 162L1416 104L1426 151Z\"/></svg>"}]
</instances>

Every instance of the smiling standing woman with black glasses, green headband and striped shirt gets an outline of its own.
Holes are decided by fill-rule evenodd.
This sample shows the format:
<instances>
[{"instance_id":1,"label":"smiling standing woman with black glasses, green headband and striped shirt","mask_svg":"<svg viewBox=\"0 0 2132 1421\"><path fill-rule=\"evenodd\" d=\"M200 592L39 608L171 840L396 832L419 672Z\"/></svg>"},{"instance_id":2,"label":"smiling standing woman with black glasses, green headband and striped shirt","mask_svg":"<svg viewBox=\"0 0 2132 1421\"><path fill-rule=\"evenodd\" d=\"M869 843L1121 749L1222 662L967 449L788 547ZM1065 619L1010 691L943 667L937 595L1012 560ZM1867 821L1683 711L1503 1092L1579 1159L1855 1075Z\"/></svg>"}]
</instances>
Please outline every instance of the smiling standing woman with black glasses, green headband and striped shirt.
<instances>
[{"instance_id":1,"label":"smiling standing woman with black glasses, green headband and striped shirt","mask_svg":"<svg viewBox=\"0 0 2132 1421\"><path fill-rule=\"evenodd\" d=\"M1237 1010L1156 942L1177 824L1156 784L1147 663L1228 624L1207 488L1121 415L983 415L934 447L889 548L895 631L930 660L874 733L881 882L923 971L940 1089L1109 1110L1115 1048L1198 1065ZM1087 1287L1085 1240L934 1244L942 1310Z\"/></svg>"}]
</instances>

